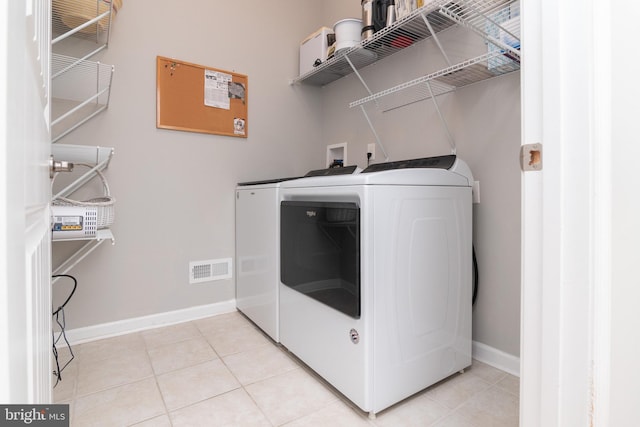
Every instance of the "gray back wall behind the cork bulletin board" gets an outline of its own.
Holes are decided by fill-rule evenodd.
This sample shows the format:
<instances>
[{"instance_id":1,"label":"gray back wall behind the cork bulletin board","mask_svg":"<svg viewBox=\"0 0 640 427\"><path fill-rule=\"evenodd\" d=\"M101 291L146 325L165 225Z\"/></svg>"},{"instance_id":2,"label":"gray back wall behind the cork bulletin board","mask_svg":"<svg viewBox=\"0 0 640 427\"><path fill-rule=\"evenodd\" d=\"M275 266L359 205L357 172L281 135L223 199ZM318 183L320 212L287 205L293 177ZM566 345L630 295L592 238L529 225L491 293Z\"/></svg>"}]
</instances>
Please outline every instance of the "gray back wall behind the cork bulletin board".
<instances>
[{"instance_id":1,"label":"gray back wall behind the cork bulletin board","mask_svg":"<svg viewBox=\"0 0 640 427\"><path fill-rule=\"evenodd\" d=\"M234 256L237 182L323 167L317 91L289 86L318 4L124 2L98 58L116 70L109 109L60 141L116 153L107 170L116 244L71 272L68 328L234 298L234 280L189 285L188 263ZM157 55L248 75L249 137L157 129ZM70 246L56 243L54 258ZM59 299L65 285L55 286Z\"/></svg>"}]
</instances>

